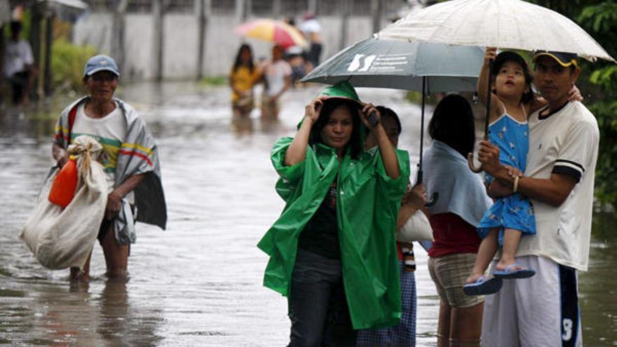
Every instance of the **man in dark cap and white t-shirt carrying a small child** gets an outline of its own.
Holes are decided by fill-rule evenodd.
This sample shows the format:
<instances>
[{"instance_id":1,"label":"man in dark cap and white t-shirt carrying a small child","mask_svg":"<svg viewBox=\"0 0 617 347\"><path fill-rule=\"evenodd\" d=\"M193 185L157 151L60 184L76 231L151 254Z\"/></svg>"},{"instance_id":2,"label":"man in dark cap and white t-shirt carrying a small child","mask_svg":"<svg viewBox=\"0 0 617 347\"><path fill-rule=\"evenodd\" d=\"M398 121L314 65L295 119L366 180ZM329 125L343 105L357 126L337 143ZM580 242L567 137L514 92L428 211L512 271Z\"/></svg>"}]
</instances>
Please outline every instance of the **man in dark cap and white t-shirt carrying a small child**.
<instances>
[{"instance_id":1,"label":"man in dark cap and white t-shirt carrying a small child","mask_svg":"<svg viewBox=\"0 0 617 347\"><path fill-rule=\"evenodd\" d=\"M587 271L599 130L593 114L568 92L581 73L577 56L541 51L534 83L548 106L529 116L524 173L499 163L499 149L480 142L479 158L500 195L533 203L535 236L517 250L533 278L506 281L484 304L482 346L582 346L577 271ZM495 191L494 190L494 191ZM505 193L505 194L504 194Z\"/></svg>"}]
</instances>

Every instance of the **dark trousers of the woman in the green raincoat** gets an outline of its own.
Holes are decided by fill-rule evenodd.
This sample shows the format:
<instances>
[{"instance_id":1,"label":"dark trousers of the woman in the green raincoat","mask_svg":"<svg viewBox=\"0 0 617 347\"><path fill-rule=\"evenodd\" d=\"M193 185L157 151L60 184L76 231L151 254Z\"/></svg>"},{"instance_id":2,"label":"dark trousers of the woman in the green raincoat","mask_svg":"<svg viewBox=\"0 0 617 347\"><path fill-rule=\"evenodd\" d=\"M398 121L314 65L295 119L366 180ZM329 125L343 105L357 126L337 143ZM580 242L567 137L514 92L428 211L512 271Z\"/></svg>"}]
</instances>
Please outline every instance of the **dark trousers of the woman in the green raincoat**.
<instances>
[{"instance_id":1,"label":"dark trousers of the woman in the green raincoat","mask_svg":"<svg viewBox=\"0 0 617 347\"><path fill-rule=\"evenodd\" d=\"M289 308L288 347L355 347L340 260L298 250Z\"/></svg>"}]
</instances>

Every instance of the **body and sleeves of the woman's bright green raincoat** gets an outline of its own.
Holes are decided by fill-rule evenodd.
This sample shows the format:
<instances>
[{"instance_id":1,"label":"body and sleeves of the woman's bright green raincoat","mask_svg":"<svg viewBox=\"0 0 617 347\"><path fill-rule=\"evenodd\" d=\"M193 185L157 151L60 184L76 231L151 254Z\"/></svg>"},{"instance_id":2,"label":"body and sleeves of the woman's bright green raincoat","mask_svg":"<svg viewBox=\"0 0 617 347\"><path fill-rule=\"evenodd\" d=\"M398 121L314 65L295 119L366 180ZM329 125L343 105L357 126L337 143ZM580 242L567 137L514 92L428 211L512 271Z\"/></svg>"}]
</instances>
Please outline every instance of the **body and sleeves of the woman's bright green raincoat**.
<instances>
[{"instance_id":1,"label":"body and sleeves of the woman's bright green raincoat","mask_svg":"<svg viewBox=\"0 0 617 347\"><path fill-rule=\"evenodd\" d=\"M280 175L276 191L286 205L259 241L258 247L270 255L264 285L289 295L300 233L332 181L338 179L341 264L353 328L398 325L401 301L394 230L409 180L409 155L397 150L397 179L386 174L377 147L364 151L357 160L347 151L339 163L332 147L309 145L303 162L285 166L285 152L292 140L283 137L271 150L272 163Z\"/></svg>"}]
</instances>

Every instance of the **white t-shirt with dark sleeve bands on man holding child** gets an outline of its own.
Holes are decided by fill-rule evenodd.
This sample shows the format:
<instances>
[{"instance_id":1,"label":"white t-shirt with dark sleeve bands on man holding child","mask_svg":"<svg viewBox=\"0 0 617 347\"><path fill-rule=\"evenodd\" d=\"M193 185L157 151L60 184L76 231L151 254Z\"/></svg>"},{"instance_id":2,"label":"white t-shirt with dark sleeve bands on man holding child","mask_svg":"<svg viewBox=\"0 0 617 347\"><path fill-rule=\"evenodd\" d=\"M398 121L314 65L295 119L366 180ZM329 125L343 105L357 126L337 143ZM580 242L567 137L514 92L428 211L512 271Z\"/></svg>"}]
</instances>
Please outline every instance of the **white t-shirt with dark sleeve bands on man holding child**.
<instances>
[{"instance_id":1,"label":"white t-shirt with dark sleeve bands on man holding child","mask_svg":"<svg viewBox=\"0 0 617 347\"><path fill-rule=\"evenodd\" d=\"M558 207L531 200L536 235L521 238L517 256L540 255L587 271L591 236L593 184L599 130L581 102L568 102L546 116L529 116L529 152L525 176L548 179L552 172L577 180Z\"/></svg>"}]
</instances>

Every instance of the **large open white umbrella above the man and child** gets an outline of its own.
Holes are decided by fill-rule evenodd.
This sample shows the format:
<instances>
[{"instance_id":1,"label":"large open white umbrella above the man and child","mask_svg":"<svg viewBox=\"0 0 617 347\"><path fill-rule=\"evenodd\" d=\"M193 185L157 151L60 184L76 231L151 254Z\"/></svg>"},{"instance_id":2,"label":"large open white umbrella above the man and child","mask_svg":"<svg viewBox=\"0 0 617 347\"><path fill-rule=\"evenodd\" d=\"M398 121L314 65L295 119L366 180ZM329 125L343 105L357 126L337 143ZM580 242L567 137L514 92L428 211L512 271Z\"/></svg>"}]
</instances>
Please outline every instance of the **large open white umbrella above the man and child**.
<instances>
[{"instance_id":1,"label":"large open white umbrella above the man and child","mask_svg":"<svg viewBox=\"0 0 617 347\"><path fill-rule=\"evenodd\" d=\"M388 25L375 36L465 46L576 53L588 60L616 62L585 30L548 8L522 0L452 0L440 2ZM490 71L490 68L489 68ZM487 86L484 139L489 129L491 81ZM469 167L475 168L471 155Z\"/></svg>"}]
</instances>

